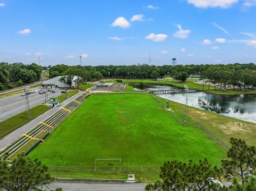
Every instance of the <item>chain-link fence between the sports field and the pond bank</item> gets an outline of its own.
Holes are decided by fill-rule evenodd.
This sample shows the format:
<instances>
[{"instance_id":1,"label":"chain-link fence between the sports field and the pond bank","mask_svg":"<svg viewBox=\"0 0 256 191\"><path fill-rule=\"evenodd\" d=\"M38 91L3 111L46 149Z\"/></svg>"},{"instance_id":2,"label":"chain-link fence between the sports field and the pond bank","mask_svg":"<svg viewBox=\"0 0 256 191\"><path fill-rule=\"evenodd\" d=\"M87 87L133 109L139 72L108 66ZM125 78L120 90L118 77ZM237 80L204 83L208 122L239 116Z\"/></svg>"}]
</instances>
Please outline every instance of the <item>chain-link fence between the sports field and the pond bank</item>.
<instances>
[{"instance_id":1,"label":"chain-link fence between the sports field and the pond bank","mask_svg":"<svg viewBox=\"0 0 256 191\"><path fill-rule=\"evenodd\" d=\"M163 108L165 108L166 106L164 106L160 100L156 99L154 96L152 96L151 94L149 94L156 102L158 102L158 104L160 104ZM184 123L183 120L181 120L180 118L178 118L173 112L168 110L168 113L173 116L180 124L182 125L188 125L188 122ZM210 131L208 128L206 128L204 125L202 125L200 122L191 122L189 125L191 126L197 126L200 127L202 130L204 130L204 132L206 132L208 135L210 135L212 138L214 138L219 144L221 144L224 148L226 148L227 150L230 148L230 145L228 143L226 143L224 140L222 140L221 138L219 138L218 136L216 136L216 134L214 134L212 131Z\"/></svg>"}]
</instances>

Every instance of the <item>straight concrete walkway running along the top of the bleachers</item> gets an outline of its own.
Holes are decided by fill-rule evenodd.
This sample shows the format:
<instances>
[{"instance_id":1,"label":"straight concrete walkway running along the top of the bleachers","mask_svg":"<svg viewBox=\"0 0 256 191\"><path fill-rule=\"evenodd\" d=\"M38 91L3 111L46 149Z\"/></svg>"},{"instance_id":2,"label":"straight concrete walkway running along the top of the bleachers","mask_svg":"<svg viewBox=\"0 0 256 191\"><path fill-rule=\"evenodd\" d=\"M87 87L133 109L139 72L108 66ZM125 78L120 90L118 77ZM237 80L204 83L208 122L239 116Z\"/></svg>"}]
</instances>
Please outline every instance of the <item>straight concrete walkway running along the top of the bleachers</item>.
<instances>
[{"instance_id":1,"label":"straight concrete walkway running along the top of the bleachers","mask_svg":"<svg viewBox=\"0 0 256 191\"><path fill-rule=\"evenodd\" d=\"M32 129L34 126L36 126L40 122L44 121L44 119L46 119L49 116L51 116L52 114L54 114L54 112L57 112L58 110L60 110L60 108L69 104L72 100L76 99L78 96L82 95L83 93L84 93L84 91L79 92L78 94L76 94L76 95L72 96L71 98L65 100L64 102L60 103L57 107L54 107L54 108L48 110L47 112L45 112L42 115L35 118L34 120L28 122L24 126L18 128L14 132L12 132L12 133L8 134L7 136L5 136L4 138L2 138L0 140L0 150L2 148L4 148L5 146L7 146L8 144L12 143L14 140L16 140L18 137L20 137L22 134L24 134L28 130Z\"/></svg>"}]
</instances>

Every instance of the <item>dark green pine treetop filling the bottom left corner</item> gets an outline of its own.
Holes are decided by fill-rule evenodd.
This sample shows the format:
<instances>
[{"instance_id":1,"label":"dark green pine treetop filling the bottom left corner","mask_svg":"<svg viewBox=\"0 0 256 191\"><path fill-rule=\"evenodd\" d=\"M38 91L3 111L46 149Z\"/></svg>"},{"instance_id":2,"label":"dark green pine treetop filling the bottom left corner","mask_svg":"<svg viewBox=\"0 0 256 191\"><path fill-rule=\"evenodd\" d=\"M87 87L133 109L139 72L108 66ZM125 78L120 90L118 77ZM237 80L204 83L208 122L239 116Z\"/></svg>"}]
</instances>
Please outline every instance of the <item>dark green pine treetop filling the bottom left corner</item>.
<instances>
[{"instance_id":1,"label":"dark green pine treetop filling the bottom left corner","mask_svg":"<svg viewBox=\"0 0 256 191\"><path fill-rule=\"evenodd\" d=\"M0 158L1 191L42 191L52 180L47 167L41 161L27 158L24 153L9 161L7 155ZM62 191L62 189L56 189Z\"/></svg>"}]
</instances>

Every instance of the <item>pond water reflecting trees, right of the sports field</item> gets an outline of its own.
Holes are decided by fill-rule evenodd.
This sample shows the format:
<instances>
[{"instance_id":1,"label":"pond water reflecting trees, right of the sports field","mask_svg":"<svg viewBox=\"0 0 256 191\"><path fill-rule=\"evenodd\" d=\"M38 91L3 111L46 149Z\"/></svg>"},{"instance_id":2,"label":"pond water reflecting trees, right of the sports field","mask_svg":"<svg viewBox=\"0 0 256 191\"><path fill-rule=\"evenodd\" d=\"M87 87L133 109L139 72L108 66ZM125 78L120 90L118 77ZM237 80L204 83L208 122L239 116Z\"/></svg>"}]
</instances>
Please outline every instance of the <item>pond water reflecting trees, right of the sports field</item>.
<instances>
[{"instance_id":1,"label":"pond water reflecting trees, right of the sports field","mask_svg":"<svg viewBox=\"0 0 256 191\"><path fill-rule=\"evenodd\" d=\"M158 85L149 85L150 90L158 90ZM175 89L160 86L160 90ZM135 89L136 90L136 89ZM162 94L162 98L186 104L186 93ZM188 93L188 105L216 112L225 116L256 123L256 95L215 95L203 92Z\"/></svg>"}]
</instances>

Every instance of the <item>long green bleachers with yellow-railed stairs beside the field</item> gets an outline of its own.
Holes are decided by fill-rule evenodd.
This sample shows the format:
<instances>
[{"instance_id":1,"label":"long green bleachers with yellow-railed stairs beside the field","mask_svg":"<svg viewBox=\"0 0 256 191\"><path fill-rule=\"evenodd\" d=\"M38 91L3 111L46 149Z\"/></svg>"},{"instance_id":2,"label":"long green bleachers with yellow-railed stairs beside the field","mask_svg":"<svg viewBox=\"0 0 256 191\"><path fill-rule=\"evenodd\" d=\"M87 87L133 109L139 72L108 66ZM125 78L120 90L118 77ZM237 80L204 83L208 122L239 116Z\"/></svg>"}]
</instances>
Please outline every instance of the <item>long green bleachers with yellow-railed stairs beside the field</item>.
<instances>
[{"instance_id":1,"label":"long green bleachers with yellow-railed stairs beside the field","mask_svg":"<svg viewBox=\"0 0 256 191\"><path fill-rule=\"evenodd\" d=\"M78 108L86 100L86 97L88 96L89 96L88 93L84 93L78 96L76 99L72 100L69 104L60 108L59 110L54 112L54 114L46 118L44 121L34 126L28 132L26 132L25 134L22 134L12 143L6 146L4 150L0 151L0 158L4 156L6 152L8 152L8 156L11 156L32 139L36 139L38 141L44 142L42 137L45 137L54 128L56 128L64 119L66 119L66 117L68 117L74 110L76 110L76 108ZM42 134L42 132L44 133ZM42 136L39 136L39 134L42 134ZM39 137L36 138L37 136Z\"/></svg>"}]
</instances>

